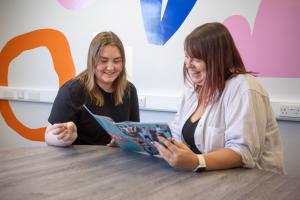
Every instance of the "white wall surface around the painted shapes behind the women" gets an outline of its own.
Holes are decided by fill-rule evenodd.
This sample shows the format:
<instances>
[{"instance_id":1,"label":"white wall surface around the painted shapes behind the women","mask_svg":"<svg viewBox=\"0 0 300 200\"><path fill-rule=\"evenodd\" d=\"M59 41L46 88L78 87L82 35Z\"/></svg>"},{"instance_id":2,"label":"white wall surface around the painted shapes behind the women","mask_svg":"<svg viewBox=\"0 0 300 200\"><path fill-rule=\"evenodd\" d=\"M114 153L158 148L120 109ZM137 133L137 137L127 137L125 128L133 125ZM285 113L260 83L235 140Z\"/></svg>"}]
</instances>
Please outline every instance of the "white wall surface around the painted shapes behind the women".
<instances>
[{"instance_id":1,"label":"white wall surface around the painted shapes behind the women","mask_svg":"<svg viewBox=\"0 0 300 200\"><path fill-rule=\"evenodd\" d=\"M131 53L127 66L130 80L136 85L139 94L146 96L146 105L151 109L174 110L176 98L180 96L183 88L182 63L185 36L200 24L209 21L223 22L232 15L242 15L253 28L260 3L267 1L270 2L270 0L198 0L171 39L165 45L158 46L147 41L139 0L90 0L86 1L89 2L88 5L76 10L66 9L55 0L3 0L0 2L0 49L18 35L37 29L55 29L65 35L78 74L85 68L87 50L93 34L112 30L122 39L127 47L127 53ZM275 3L278 2L287 1L280 0ZM288 2L296 5L295 2L298 1L288 0ZM163 3L165 5L167 1L163 0ZM0 74L1 76L3 74ZM59 85L52 58L45 47L24 51L13 59L9 65L7 79L8 86L13 88L43 91L57 90ZM300 102L299 77L261 77L260 80L272 100ZM168 109L166 106L170 105L163 105L163 102L158 101L157 98L153 99L153 96L164 96L166 99L174 97L175 103L173 102ZM9 104L16 118L25 126L30 128L46 126L51 103L10 101ZM141 112L142 121L153 119L170 121L173 115L172 112ZM296 169L299 168L300 161L295 158L299 152L297 141L300 136L300 125L298 122L281 121L279 125L285 144L288 171L299 175ZM0 147L31 145L44 145L44 143L23 138L0 115Z\"/></svg>"}]
</instances>

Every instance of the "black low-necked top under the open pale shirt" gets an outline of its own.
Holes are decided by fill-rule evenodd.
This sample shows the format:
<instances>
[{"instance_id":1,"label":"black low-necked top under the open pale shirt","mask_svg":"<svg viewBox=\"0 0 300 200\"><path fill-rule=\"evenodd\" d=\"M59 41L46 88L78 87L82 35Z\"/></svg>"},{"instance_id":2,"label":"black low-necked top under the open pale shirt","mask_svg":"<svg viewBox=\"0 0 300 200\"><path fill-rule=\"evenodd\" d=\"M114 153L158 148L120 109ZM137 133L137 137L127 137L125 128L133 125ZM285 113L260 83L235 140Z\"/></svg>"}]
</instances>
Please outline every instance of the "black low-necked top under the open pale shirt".
<instances>
[{"instance_id":1,"label":"black low-necked top under the open pale shirt","mask_svg":"<svg viewBox=\"0 0 300 200\"><path fill-rule=\"evenodd\" d=\"M185 142L189 146L189 148L196 154L201 154L201 152L195 145L195 139L194 139L195 130L196 130L199 120L200 119L198 119L195 122L192 122L191 117L190 117L188 120L186 120L186 122L182 128L183 139L185 140Z\"/></svg>"}]
</instances>

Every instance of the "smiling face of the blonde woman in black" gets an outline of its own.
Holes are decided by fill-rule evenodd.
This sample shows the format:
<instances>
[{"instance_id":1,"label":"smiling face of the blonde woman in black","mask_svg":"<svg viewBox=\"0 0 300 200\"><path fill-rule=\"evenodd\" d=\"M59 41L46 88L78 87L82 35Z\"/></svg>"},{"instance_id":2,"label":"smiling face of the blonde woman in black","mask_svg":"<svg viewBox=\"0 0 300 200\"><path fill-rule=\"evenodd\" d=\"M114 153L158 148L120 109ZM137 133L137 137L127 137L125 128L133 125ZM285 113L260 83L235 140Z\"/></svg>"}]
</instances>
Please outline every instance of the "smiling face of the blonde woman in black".
<instances>
[{"instance_id":1,"label":"smiling face of the blonde woman in black","mask_svg":"<svg viewBox=\"0 0 300 200\"><path fill-rule=\"evenodd\" d=\"M123 70L120 50L113 45L104 46L95 68L96 83L106 92L113 91L113 82Z\"/></svg>"}]
</instances>

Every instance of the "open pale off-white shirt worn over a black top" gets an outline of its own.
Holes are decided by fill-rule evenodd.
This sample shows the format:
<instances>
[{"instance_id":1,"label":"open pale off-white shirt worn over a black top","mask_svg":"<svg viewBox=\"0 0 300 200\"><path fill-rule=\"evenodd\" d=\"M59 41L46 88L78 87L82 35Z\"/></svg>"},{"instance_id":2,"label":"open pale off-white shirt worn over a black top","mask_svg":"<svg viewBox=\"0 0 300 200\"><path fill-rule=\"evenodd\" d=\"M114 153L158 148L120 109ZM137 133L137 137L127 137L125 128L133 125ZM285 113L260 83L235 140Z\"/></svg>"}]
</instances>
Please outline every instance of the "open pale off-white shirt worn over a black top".
<instances>
[{"instance_id":1,"label":"open pale off-white shirt worn over a black top","mask_svg":"<svg viewBox=\"0 0 300 200\"><path fill-rule=\"evenodd\" d=\"M187 88L170 124L174 138L185 143L182 128L198 104L197 93ZM230 148L243 166L284 173L282 142L267 92L249 74L226 82L220 99L208 105L195 130L202 153Z\"/></svg>"}]
</instances>

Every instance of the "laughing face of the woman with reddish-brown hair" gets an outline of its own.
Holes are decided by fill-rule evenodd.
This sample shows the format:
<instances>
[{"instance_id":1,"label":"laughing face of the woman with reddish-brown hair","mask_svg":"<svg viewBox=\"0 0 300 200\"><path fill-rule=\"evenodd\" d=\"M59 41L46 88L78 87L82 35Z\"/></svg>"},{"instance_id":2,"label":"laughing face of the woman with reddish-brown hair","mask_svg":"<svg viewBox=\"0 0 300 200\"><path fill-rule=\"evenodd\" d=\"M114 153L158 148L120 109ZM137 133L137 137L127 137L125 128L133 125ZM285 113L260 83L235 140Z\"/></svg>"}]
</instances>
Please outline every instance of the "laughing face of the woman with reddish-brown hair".
<instances>
[{"instance_id":1,"label":"laughing face of the woman with reddish-brown hair","mask_svg":"<svg viewBox=\"0 0 300 200\"><path fill-rule=\"evenodd\" d=\"M191 58L185 54L184 64L192 82L197 86L203 86L206 79L205 62L201 59Z\"/></svg>"}]
</instances>

